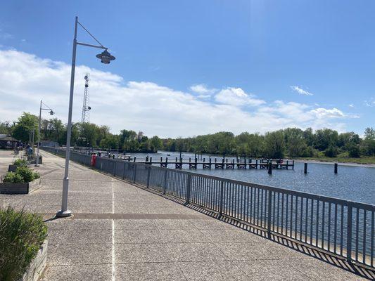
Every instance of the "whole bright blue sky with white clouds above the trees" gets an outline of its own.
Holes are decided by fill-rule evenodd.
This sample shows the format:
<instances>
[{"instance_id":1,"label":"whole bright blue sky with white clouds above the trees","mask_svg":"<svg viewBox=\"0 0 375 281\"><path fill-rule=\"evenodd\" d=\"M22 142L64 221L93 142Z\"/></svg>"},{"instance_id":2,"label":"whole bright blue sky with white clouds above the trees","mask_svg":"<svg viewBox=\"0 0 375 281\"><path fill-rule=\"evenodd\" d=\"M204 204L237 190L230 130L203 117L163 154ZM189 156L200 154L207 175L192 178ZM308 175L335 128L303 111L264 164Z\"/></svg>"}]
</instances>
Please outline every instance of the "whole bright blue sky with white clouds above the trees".
<instances>
[{"instance_id":1,"label":"whole bright blue sky with white clouds above the trees","mask_svg":"<svg viewBox=\"0 0 375 281\"><path fill-rule=\"evenodd\" d=\"M77 73L94 74L91 121L114 132L193 136L331 126L362 134L375 126L374 13L374 1L6 1L0 51L9 60L2 59L3 68L0 60L0 72L25 77L30 94L18 79L4 81L12 85L1 96L23 95L8 98L0 112L7 119L37 112L42 98L66 119L69 89L61 77L69 79L78 15L117 57L102 65L96 49L80 46L77 53ZM94 43L82 29L78 37ZM39 59L49 62L34 72L11 70ZM75 121L82 80L76 77ZM16 105L27 97L30 107Z\"/></svg>"}]
</instances>

